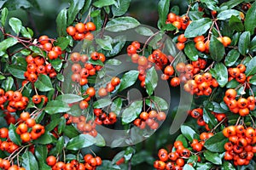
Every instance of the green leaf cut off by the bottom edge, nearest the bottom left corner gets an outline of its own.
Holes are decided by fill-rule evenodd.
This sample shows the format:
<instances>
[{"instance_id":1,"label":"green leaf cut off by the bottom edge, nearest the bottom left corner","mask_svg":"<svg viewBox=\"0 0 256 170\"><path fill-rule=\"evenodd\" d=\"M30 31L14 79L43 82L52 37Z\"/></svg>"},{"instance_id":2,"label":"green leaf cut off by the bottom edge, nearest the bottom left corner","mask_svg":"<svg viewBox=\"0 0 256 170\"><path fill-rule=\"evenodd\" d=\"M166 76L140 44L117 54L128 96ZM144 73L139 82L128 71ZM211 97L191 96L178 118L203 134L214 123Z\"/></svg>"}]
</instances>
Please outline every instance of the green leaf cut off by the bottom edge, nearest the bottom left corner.
<instances>
[{"instance_id":1,"label":"green leaf cut off by the bottom edge, nearest the bottom left corner","mask_svg":"<svg viewBox=\"0 0 256 170\"><path fill-rule=\"evenodd\" d=\"M22 167L25 167L26 170L38 170L38 161L29 150L22 155Z\"/></svg>"}]
</instances>

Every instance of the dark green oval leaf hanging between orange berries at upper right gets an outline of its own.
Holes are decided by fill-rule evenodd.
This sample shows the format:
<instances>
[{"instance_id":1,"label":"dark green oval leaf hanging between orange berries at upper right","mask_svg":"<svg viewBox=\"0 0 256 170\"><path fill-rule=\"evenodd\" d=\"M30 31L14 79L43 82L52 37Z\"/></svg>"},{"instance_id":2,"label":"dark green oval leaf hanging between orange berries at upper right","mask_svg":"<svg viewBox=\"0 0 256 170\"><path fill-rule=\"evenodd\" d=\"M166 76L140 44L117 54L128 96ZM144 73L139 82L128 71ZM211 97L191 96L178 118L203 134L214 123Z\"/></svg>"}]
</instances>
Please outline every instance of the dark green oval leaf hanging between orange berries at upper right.
<instances>
[{"instance_id":1,"label":"dark green oval leaf hanging between orange berries at upper right","mask_svg":"<svg viewBox=\"0 0 256 170\"><path fill-rule=\"evenodd\" d=\"M225 54L224 45L214 36L212 36L210 40L210 54L211 58L215 61L221 61Z\"/></svg>"}]
</instances>

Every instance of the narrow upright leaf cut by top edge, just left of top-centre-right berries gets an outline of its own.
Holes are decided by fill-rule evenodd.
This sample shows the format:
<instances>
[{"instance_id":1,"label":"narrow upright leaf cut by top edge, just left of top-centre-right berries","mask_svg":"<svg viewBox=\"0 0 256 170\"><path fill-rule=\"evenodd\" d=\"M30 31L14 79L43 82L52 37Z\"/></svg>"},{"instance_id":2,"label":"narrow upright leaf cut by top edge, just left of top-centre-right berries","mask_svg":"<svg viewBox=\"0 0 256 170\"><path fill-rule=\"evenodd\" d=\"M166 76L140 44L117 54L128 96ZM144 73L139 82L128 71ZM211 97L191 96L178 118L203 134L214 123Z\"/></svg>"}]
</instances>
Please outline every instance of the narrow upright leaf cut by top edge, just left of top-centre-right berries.
<instances>
[{"instance_id":1,"label":"narrow upright leaf cut by top edge, just left of top-centre-right berries","mask_svg":"<svg viewBox=\"0 0 256 170\"><path fill-rule=\"evenodd\" d=\"M167 14L169 13L170 0L160 0L158 3L158 14L160 26L166 24Z\"/></svg>"}]
</instances>

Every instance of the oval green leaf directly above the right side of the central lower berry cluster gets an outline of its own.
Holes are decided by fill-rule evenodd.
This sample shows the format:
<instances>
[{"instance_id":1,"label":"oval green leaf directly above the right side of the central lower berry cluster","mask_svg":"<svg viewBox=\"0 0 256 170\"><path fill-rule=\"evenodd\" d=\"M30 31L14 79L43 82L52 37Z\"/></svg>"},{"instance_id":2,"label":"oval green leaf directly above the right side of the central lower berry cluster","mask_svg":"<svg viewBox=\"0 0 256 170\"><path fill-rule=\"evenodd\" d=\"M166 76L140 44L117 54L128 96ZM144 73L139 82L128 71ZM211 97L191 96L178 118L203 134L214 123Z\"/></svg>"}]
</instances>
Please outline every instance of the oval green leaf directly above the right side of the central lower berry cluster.
<instances>
[{"instance_id":1,"label":"oval green leaf directly above the right side of the central lower berry cluster","mask_svg":"<svg viewBox=\"0 0 256 170\"><path fill-rule=\"evenodd\" d=\"M165 99L162 99L157 96L150 96L149 99L146 99L146 104L153 109L157 109L160 111L165 111L169 108Z\"/></svg>"}]
</instances>

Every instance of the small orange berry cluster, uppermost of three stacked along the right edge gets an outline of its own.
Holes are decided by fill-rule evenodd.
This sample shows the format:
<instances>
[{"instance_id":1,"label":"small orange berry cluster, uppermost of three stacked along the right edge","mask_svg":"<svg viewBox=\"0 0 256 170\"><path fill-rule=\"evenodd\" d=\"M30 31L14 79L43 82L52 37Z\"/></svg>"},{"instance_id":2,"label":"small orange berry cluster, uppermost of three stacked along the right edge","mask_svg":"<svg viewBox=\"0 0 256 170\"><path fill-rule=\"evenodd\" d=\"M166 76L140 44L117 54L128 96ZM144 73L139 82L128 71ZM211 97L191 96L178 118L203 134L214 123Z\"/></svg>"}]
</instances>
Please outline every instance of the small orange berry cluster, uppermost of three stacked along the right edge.
<instances>
[{"instance_id":1,"label":"small orange berry cluster, uppermost of three stacked along the right edge","mask_svg":"<svg viewBox=\"0 0 256 170\"><path fill-rule=\"evenodd\" d=\"M246 81L249 82L250 78L253 76L247 77L244 73L246 69L246 66L243 64L239 64L234 68L229 68L229 81L236 79L236 82L240 82L241 84Z\"/></svg>"}]
</instances>

